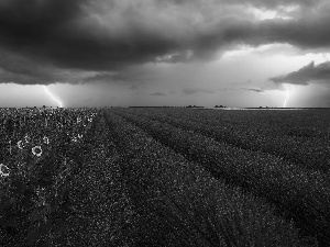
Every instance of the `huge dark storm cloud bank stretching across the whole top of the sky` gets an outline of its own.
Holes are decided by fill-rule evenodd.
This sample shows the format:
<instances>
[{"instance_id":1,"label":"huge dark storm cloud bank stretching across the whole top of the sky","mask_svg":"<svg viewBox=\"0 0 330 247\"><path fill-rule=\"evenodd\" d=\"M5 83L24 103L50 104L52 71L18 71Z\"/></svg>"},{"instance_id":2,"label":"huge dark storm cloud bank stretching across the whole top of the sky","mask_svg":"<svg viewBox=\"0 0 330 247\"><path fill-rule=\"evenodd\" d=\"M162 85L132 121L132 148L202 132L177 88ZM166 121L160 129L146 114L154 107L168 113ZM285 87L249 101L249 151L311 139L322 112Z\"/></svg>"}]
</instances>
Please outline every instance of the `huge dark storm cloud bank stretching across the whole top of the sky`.
<instances>
[{"instance_id":1,"label":"huge dark storm cloud bank stretching across the whole top of the sky","mask_svg":"<svg viewBox=\"0 0 330 247\"><path fill-rule=\"evenodd\" d=\"M290 15L284 7L295 4L289 20L249 12L256 7ZM209 60L238 44L324 49L329 12L327 1L315 0L1 0L0 49L12 57L0 58L0 81L67 79L53 68L98 72L84 82L132 81L139 78L125 74L132 65ZM11 71L14 57L36 69Z\"/></svg>"}]
</instances>

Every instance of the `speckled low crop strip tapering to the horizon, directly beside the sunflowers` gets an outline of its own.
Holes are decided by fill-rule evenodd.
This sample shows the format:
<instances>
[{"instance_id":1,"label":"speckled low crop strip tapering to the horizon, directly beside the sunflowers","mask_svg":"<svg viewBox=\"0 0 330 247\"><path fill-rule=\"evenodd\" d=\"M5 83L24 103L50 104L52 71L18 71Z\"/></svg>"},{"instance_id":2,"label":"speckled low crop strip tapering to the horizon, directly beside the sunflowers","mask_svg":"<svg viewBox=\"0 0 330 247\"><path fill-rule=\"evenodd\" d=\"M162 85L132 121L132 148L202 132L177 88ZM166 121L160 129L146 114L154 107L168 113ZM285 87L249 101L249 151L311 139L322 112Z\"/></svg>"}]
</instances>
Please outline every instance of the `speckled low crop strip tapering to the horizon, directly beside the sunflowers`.
<instances>
[{"instance_id":1,"label":"speckled low crop strip tapering to the horizon, directly beside the sunflowers","mask_svg":"<svg viewBox=\"0 0 330 247\"><path fill-rule=\"evenodd\" d=\"M68 232L54 246L133 246L134 209L128 197L108 124L100 114L92 138L79 155L82 162L72 175ZM68 184L66 184L68 186Z\"/></svg>"}]
</instances>

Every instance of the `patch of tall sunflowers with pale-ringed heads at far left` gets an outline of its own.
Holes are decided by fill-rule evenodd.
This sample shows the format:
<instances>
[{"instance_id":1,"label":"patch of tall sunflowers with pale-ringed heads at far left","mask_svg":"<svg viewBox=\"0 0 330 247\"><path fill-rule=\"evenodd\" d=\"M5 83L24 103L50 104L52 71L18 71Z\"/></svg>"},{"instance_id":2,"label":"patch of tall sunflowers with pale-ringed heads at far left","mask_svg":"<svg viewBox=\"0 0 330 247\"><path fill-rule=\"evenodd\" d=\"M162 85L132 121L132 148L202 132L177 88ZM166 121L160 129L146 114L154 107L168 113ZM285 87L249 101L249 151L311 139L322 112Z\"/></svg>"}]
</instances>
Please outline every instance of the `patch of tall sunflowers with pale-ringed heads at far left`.
<instances>
[{"instance_id":1,"label":"patch of tall sunflowers with pale-ringed heads at far left","mask_svg":"<svg viewBox=\"0 0 330 247\"><path fill-rule=\"evenodd\" d=\"M68 179L98 112L0 110L0 246L46 245L67 231Z\"/></svg>"}]
</instances>

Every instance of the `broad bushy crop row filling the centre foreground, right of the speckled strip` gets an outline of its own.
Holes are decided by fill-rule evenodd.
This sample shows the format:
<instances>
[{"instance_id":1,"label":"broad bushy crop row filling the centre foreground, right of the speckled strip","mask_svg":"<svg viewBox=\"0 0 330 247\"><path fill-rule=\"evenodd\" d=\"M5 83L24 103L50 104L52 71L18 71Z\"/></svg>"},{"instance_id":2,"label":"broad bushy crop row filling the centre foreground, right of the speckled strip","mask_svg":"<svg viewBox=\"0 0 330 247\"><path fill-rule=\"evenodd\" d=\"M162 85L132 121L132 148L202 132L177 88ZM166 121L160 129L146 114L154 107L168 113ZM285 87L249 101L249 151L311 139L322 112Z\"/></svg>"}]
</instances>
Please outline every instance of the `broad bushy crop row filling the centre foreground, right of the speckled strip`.
<instances>
[{"instance_id":1,"label":"broad bushy crop row filling the centre foreground, right of the speckled strip","mask_svg":"<svg viewBox=\"0 0 330 247\"><path fill-rule=\"evenodd\" d=\"M141 215L139 225L144 239L139 244L304 246L297 229L277 216L265 200L216 180L198 164L118 114L106 111L106 116L122 155L122 173ZM134 123L142 126L140 121ZM158 131L154 124L150 127ZM182 136L168 138L182 143Z\"/></svg>"}]
</instances>

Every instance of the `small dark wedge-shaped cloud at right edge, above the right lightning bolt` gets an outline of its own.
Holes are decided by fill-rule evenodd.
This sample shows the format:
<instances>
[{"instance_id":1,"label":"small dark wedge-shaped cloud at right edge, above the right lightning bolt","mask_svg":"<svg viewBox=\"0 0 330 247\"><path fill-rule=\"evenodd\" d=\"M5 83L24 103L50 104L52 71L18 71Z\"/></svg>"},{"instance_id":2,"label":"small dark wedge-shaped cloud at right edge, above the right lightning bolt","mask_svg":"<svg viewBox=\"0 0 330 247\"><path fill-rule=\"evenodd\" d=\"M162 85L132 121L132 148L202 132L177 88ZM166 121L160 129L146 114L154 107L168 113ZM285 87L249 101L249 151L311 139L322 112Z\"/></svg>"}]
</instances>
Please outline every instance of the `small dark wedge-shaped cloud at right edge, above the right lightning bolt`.
<instances>
[{"instance_id":1,"label":"small dark wedge-shaped cloud at right edge, above the right lightning bolt","mask_svg":"<svg viewBox=\"0 0 330 247\"><path fill-rule=\"evenodd\" d=\"M315 66L311 61L309 65L284 76L270 78L275 83L290 85L309 85L311 82L330 83L330 61Z\"/></svg>"}]
</instances>

